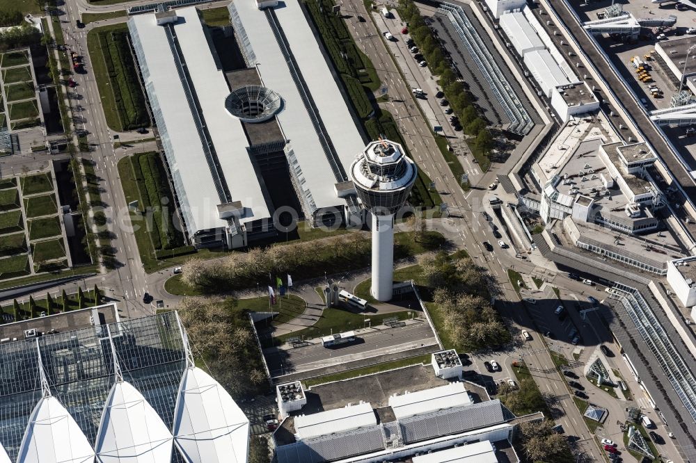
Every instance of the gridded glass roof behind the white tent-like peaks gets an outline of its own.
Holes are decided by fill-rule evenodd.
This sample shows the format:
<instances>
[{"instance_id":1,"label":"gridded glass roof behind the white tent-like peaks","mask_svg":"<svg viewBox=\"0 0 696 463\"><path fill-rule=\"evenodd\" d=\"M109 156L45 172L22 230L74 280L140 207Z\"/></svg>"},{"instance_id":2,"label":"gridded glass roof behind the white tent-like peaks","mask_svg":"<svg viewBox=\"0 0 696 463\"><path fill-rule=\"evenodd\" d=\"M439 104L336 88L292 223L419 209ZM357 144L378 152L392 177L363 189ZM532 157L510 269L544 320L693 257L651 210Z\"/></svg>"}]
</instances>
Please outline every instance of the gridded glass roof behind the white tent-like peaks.
<instances>
[{"instance_id":1,"label":"gridded glass roof behind the white tent-like peaks","mask_svg":"<svg viewBox=\"0 0 696 463\"><path fill-rule=\"evenodd\" d=\"M113 323L109 328L123 379L143 394L171 429L177 390L187 366L175 312ZM13 461L41 398L39 358L52 395L93 445L115 381L104 326L0 345L0 444ZM173 455L172 462L182 459Z\"/></svg>"}]
</instances>

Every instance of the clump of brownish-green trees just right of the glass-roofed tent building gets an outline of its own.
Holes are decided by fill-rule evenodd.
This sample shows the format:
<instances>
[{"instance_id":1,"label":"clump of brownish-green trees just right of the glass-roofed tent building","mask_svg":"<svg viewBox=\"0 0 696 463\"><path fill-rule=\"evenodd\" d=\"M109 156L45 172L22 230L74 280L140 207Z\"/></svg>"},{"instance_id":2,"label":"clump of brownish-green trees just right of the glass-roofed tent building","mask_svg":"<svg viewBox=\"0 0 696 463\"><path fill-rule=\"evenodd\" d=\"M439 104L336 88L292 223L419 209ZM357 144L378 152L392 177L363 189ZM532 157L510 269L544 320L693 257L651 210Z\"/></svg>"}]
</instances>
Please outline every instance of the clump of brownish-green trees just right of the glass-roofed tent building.
<instances>
[{"instance_id":1,"label":"clump of brownish-green trees just right of the glass-roofed tent building","mask_svg":"<svg viewBox=\"0 0 696 463\"><path fill-rule=\"evenodd\" d=\"M177 307L196 357L235 399L266 383L261 352L249 329L248 311L231 298L184 298Z\"/></svg>"}]
</instances>

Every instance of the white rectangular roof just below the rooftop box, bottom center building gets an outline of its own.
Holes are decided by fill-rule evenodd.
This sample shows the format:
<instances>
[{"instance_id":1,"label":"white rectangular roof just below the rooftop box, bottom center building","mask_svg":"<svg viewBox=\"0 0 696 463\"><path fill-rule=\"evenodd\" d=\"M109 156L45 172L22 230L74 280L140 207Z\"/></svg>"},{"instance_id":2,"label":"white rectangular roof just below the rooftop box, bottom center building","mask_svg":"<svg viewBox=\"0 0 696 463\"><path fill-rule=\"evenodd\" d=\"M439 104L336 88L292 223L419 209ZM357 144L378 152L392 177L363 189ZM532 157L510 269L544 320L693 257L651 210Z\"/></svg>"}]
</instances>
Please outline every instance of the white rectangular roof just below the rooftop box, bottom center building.
<instances>
[{"instance_id":1,"label":"white rectangular roof just below the rooftop box, bottom center building","mask_svg":"<svg viewBox=\"0 0 696 463\"><path fill-rule=\"evenodd\" d=\"M437 410L470 405L471 399L461 382L452 382L445 386L411 392L401 396L391 396L389 406L396 419L408 416L436 412Z\"/></svg>"}]
</instances>

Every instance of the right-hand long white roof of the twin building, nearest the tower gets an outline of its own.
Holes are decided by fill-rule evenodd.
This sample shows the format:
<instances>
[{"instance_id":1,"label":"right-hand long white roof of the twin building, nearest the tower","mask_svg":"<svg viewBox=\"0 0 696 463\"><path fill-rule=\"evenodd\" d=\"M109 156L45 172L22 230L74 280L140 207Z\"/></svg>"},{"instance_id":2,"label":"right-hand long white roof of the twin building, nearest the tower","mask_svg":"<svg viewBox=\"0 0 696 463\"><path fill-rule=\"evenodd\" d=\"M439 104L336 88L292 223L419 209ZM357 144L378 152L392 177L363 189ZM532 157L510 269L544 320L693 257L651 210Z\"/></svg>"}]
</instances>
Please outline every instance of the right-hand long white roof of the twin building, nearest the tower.
<instances>
[{"instance_id":1,"label":"right-hand long white roof of the twin building, nearest the tower","mask_svg":"<svg viewBox=\"0 0 696 463\"><path fill-rule=\"evenodd\" d=\"M287 0L283 8L274 12L347 172L356 154L364 148L363 140L296 1ZM337 180L264 12L251 0L235 1L234 5L251 42L264 86L283 98L283 109L277 117L300 165L304 177L301 188L310 191L318 208L345 204L335 192Z\"/></svg>"}]
</instances>

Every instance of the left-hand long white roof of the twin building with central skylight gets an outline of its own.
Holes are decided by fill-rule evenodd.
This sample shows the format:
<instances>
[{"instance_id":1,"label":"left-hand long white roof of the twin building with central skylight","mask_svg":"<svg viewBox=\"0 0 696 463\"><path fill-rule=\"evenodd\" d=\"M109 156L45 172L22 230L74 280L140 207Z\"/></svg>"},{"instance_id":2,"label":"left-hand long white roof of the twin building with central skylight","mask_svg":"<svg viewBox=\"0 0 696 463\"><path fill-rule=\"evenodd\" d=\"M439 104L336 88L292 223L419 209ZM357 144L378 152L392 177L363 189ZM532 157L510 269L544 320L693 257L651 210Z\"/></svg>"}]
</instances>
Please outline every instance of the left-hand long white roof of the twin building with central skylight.
<instances>
[{"instance_id":1,"label":"left-hand long white roof of the twin building with central skylight","mask_svg":"<svg viewBox=\"0 0 696 463\"><path fill-rule=\"evenodd\" d=\"M205 124L214 144L232 201L241 201L249 208L240 222L270 217L260 184L246 152L248 146L242 123L225 111L225 98L230 90L225 76L214 62L196 8L177 10L180 17L174 26L180 49L187 63L193 88L200 103ZM147 70L143 76L148 92L157 96L165 135L165 144L174 184L187 215L190 232L226 225L218 218L216 205L221 203L213 183L203 147L189 110L183 84L179 79L164 26L158 26L155 15L135 15L129 26L136 30ZM188 206L188 207L187 207Z\"/></svg>"}]
</instances>

